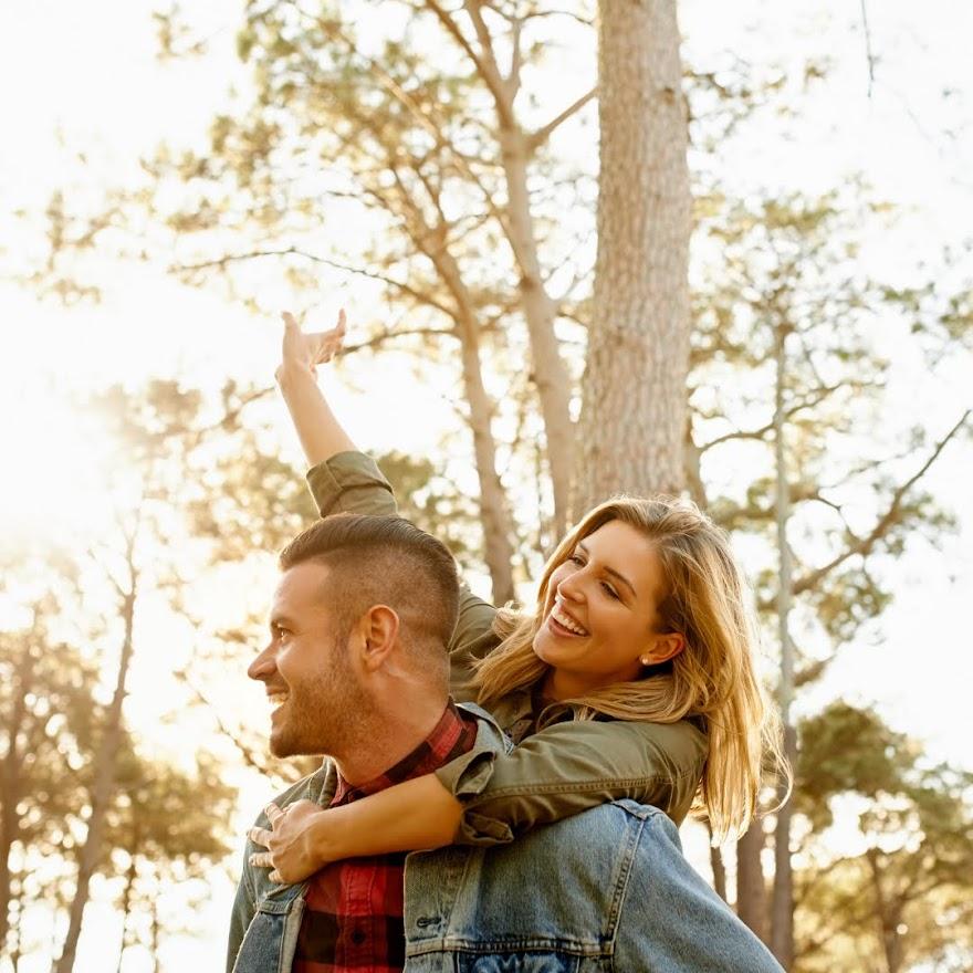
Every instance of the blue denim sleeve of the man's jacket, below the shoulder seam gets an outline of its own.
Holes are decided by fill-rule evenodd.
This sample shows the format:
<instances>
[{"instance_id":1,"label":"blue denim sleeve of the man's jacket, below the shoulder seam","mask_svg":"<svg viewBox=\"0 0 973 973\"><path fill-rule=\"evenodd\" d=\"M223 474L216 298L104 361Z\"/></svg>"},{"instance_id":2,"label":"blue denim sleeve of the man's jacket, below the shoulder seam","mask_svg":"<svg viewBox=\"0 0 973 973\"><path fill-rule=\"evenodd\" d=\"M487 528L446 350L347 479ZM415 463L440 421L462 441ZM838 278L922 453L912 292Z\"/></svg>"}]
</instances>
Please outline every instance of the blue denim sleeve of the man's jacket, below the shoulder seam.
<instances>
[{"instance_id":1,"label":"blue denim sleeve of the man's jacket, below the shoulder seam","mask_svg":"<svg viewBox=\"0 0 973 973\"><path fill-rule=\"evenodd\" d=\"M645 819L618 909L615 969L630 973L784 973L686 860L665 815Z\"/></svg>"}]
</instances>

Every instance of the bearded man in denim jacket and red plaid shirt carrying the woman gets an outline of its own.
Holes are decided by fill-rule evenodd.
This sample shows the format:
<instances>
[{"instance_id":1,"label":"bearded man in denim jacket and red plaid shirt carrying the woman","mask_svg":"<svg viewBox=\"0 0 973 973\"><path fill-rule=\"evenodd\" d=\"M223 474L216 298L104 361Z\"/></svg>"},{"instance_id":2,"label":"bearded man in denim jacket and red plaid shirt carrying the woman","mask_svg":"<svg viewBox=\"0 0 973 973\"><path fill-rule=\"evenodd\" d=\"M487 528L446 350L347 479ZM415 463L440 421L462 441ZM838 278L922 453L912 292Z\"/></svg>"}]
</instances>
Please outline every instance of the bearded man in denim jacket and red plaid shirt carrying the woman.
<instances>
[{"instance_id":1,"label":"bearded man in denim jacket and red plaid shirt carrying the woman","mask_svg":"<svg viewBox=\"0 0 973 973\"><path fill-rule=\"evenodd\" d=\"M272 752L329 760L273 815L301 799L339 806L464 752L504 749L489 714L448 697L458 582L439 542L395 516L333 516L299 535L281 567L271 640L249 674L276 703ZM236 973L780 973L686 862L671 822L628 801L513 844L336 861L293 885L250 864L260 852L248 844Z\"/></svg>"}]
</instances>

